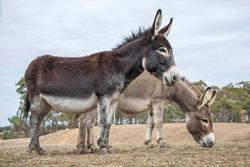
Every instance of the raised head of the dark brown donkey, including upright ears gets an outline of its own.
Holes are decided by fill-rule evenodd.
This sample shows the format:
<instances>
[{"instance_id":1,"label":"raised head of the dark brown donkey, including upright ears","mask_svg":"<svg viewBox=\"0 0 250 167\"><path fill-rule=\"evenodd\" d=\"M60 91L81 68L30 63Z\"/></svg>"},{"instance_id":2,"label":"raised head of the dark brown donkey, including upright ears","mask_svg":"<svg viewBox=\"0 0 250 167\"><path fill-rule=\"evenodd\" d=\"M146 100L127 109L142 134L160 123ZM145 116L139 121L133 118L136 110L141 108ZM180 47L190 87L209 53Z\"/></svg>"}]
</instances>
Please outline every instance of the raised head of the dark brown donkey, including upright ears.
<instances>
[{"instance_id":1,"label":"raised head of the dark brown donkey, including upright ears","mask_svg":"<svg viewBox=\"0 0 250 167\"><path fill-rule=\"evenodd\" d=\"M145 70L161 79L168 86L172 86L179 80L172 47L166 39L170 32L173 18L170 19L168 25L160 29L161 19L162 12L159 9L149 33L145 36L150 42L150 47L145 50L142 64Z\"/></svg>"}]
</instances>

